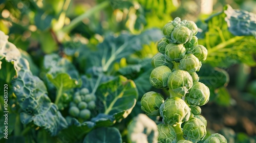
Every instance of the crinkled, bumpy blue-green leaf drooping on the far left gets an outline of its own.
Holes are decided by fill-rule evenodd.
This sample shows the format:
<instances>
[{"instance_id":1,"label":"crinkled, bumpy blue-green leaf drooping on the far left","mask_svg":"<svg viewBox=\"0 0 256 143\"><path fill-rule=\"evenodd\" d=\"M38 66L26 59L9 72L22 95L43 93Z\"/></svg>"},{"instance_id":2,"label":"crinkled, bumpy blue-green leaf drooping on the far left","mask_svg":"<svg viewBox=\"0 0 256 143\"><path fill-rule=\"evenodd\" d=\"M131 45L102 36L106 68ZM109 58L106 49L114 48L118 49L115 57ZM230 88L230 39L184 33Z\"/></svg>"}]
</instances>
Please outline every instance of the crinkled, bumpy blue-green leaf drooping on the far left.
<instances>
[{"instance_id":1,"label":"crinkled, bumpy blue-green leaf drooping on the far left","mask_svg":"<svg viewBox=\"0 0 256 143\"><path fill-rule=\"evenodd\" d=\"M23 124L33 122L56 135L63 128L67 128L67 122L55 104L47 96L47 89L38 77L33 76L29 70L28 61L19 59L18 77L12 82L17 102L23 112L20 113L20 121Z\"/></svg>"}]
</instances>

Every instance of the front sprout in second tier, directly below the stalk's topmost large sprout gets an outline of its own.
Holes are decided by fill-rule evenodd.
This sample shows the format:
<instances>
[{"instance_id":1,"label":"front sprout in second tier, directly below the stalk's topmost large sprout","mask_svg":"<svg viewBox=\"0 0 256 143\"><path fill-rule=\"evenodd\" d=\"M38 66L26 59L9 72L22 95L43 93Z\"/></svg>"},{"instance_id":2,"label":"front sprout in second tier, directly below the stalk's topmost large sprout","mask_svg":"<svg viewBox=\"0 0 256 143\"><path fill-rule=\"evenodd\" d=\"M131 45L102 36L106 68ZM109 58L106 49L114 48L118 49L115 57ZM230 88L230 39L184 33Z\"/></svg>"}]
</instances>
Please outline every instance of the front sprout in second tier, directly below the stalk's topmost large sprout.
<instances>
[{"instance_id":1,"label":"front sprout in second tier, directly below the stalk's topmost large sprout","mask_svg":"<svg viewBox=\"0 0 256 143\"><path fill-rule=\"evenodd\" d=\"M186 54L186 49L182 44L169 43L165 48L165 58L168 61L180 61Z\"/></svg>"}]
</instances>

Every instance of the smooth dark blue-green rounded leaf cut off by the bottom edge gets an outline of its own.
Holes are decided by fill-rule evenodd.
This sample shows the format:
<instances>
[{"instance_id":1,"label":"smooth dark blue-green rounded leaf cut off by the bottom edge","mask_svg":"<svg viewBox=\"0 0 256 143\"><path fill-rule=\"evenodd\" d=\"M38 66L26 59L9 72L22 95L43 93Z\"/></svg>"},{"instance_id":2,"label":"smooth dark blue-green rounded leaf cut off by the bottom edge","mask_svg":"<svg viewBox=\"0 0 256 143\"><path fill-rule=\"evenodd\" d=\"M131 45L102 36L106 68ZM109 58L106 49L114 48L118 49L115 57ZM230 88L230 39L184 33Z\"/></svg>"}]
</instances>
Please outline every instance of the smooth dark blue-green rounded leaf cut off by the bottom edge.
<instances>
[{"instance_id":1,"label":"smooth dark blue-green rounded leaf cut off by the bottom edge","mask_svg":"<svg viewBox=\"0 0 256 143\"><path fill-rule=\"evenodd\" d=\"M118 129L116 128L97 128L91 131L83 140L84 143L87 142L122 142L122 137Z\"/></svg>"}]
</instances>

